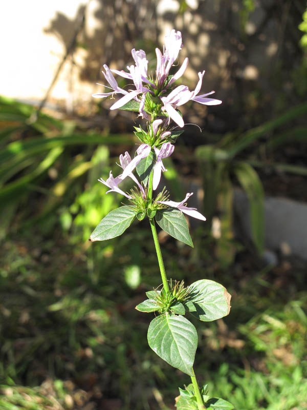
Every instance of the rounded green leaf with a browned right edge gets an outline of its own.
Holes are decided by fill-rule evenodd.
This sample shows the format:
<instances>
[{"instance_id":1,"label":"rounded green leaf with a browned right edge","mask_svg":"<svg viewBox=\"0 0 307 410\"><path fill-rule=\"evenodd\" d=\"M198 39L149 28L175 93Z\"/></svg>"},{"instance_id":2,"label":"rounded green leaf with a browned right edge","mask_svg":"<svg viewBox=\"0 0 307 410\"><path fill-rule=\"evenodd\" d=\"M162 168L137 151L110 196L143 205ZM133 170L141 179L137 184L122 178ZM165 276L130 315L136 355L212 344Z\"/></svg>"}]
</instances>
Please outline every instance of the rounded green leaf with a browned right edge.
<instances>
[{"instance_id":1,"label":"rounded green leaf with a browned right edge","mask_svg":"<svg viewBox=\"0 0 307 410\"><path fill-rule=\"evenodd\" d=\"M189 297L184 305L196 318L211 322L229 314L231 295L220 283L201 279L192 283L188 290Z\"/></svg>"}]
</instances>

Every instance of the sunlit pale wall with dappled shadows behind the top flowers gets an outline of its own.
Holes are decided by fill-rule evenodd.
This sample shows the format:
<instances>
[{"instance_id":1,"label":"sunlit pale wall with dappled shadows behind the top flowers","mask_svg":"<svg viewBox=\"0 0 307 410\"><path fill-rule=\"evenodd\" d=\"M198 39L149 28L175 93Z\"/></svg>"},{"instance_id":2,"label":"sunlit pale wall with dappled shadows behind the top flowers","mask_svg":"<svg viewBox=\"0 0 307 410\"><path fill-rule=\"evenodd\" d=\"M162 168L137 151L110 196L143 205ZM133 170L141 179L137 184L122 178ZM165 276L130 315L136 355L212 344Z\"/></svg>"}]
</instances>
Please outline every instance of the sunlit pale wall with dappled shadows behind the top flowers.
<instances>
[{"instance_id":1,"label":"sunlit pale wall with dappled shadows behind the top flowers","mask_svg":"<svg viewBox=\"0 0 307 410\"><path fill-rule=\"evenodd\" d=\"M284 70L280 74L278 64L282 60L285 67L295 67L299 12L292 2L276 10L274 3L255 0L255 10L244 17L239 0L188 0L183 13L176 0L11 0L0 16L0 94L34 101L43 98L85 8L78 47L64 64L50 101L64 101L68 108L91 103L91 94L102 90L95 83L103 81L104 63L125 68L133 47L145 49L155 59L158 40L162 44L165 32L175 28L183 34L180 58L190 59L185 81L193 88L197 72L206 70L204 90L214 89L224 103L217 114L220 127L215 126L225 131L237 126L230 110L240 115L245 111L245 117L264 109L266 116L271 114L266 106L276 106L279 92L283 99L288 94L295 99L290 74ZM278 84L272 81L276 70ZM204 106L194 110L195 117L206 115Z\"/></svg>"}]
</instances>

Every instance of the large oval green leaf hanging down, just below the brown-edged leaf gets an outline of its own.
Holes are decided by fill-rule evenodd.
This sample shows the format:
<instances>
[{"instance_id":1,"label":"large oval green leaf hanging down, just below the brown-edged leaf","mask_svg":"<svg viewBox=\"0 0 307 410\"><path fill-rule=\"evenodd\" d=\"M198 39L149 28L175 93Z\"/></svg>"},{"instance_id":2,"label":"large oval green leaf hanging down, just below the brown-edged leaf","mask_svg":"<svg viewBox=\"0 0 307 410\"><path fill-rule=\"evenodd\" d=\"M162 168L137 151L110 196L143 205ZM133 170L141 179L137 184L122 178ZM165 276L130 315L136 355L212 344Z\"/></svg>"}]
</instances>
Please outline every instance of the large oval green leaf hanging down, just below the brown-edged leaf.
<instances>
[{"instance_id":1,"label":"large oval green leaf hanging down, just below the brown-edged leaf","mask_svg":"<svg viewBox=\"0 0 307 410\"><path fill-rule=\"evenodd\" d=\"M148 344L173 367L193 376L198 336L195 327L184 316L161 315L148 327Z\"/></svg>"}]
</instances>

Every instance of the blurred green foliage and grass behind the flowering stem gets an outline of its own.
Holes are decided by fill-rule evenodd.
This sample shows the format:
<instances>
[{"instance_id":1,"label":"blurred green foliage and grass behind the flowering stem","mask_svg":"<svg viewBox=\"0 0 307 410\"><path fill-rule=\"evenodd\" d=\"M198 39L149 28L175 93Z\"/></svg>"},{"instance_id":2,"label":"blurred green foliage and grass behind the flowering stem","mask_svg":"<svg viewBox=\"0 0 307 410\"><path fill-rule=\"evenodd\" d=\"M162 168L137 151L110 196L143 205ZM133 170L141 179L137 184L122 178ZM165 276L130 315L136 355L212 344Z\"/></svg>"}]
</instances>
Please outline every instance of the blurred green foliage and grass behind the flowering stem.
<instances>
[{"instance_id":1,"label":"blurred green foliage and grass behind the flowering stem","mask_svg":"<svg viewBox=\"0 0 307 410\"><path fill-rule=\"evenodd\" d=\"M103 63L117 61L124 68L132 47L155 57L159 7L140 3L147 14L135 1L106 2L105 8L100 2L96 17L103 25L95 31L95 44L83 30L82 5L75 20L57 13L47 30L65 45L63 60L77 49L89 51L80 77L95 82ZM199 50L185 42L185 34L197 43L210 31L208 22L201 28L206 11L215 13L219 24L208 60L229 49L225 67L214 77L224 104L208 112L189 106L186 122L203 132L186 126L166 161L165 183L174 200L182 199L186 186L203 189L208 219L192 226L194 249L160 233L168 276L187 284L217 280L232 294L229 317L205 327L195 323L196 371L200 382L237 410L303 410L306 262L278 254L270 265L263 255L265 195L307 200L305 4L173 3L163 18L183 32L193 69L202 69L194 58ZM255 17L251 32L259 7L265 14L261 21ZM260 62L252 80L242 61L270 27L279 30L277 56L274 64ZM134 309L144 292L160 283L146 220L116 240L87 241L122 201L117 194L105 195L97 179L107 178L110 169L118 173L120 153L133 154L137 119L109 112L108 102L65 111L58 101L57 110L50 110L49 101L54 103L52 87L36 106L0 98L0 408L173 409L178 385L188 380L149 350L148 318ZM238 187L249 199L251 240L236 229Z\"/></svg>"}]
</instances>

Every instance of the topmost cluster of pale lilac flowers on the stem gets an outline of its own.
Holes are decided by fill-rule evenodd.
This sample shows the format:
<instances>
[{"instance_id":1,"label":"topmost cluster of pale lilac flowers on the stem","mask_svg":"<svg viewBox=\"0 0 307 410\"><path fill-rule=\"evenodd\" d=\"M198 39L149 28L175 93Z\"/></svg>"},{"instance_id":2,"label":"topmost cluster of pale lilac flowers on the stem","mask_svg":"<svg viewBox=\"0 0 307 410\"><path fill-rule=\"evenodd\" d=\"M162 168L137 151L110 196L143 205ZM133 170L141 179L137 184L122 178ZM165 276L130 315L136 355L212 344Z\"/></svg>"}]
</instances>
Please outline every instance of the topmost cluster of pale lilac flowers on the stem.
<instances>
[{"instance_id":1,"label":"topmost cluster of pale lilac flowers on the stem","mask_svg":"<svg viewBox=\"0 0 307 410\"><path fill-rule=\"evenodd\" d=\"M150 120L150 115L148 115L148 113L145 111L146 94L149 92L150 94L155 95L155 90L153 89L157 89L158 87L158 95L163 103L161 110L167 113L168 124L171 118L174 122L176 122L176 124L178 124L179 127L184 127L184 120L181 116L181 113L177 110L178 107L182 106L183 104L186 104L189 100L193 100L196 101L196 103L204 105L217 105L221 104L222 101L214 98L206 98L208 95L213 94L214 91L198 95L202 88L202 81L205 71L198 73L199 81L196 84L194 91L189 91L187 86L182 85L176 87L168 95L166 95L169 88L172 88L172 84L174 83L174 81L176 81L184 74L188 65L189 60L188 58L185 58L180 69L174 75L169 75L170 68L173 65L174 61L177 59L181 48L181 32L171 30L171 32L165 36L165 46L163 47L163 55L158 48L156 49L157 69L155 84L153 84L148 79L148 60L146 58L145 51L136 49L131 50L131 54L134 58L135 65L127 66L128 72L110 70L106 65L104 65L103 67L105 69L105 72L103 72L103 75L110 85L110 87L108 88L111 88L113 91L109 93L98 93L94 94L93 96L96 98L104 98L113 94L123 94L123 96L110 107L111 110L116 110L117 108L120 108L127 104L130 100L134 99L138 101L138 103L140 103L139 116L147 120ZM135 89L126 91L120 88L112 72L117 73L118 75L124 78L133 80ZM157 113L153 112L152 115L153 117L155 117ZM156 130L152 130L153 136L155 136L158 130L158 125ZM166 136L167 135L165 134L161 135L162 138ZM138 159L134 158L131 161L132 165L135 164L135 160L137 161Z\"/></svg>"}]
</instances>

